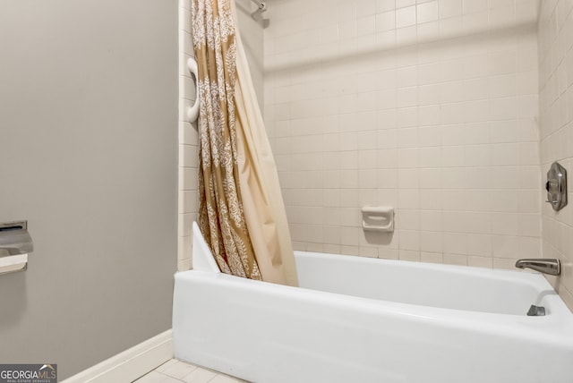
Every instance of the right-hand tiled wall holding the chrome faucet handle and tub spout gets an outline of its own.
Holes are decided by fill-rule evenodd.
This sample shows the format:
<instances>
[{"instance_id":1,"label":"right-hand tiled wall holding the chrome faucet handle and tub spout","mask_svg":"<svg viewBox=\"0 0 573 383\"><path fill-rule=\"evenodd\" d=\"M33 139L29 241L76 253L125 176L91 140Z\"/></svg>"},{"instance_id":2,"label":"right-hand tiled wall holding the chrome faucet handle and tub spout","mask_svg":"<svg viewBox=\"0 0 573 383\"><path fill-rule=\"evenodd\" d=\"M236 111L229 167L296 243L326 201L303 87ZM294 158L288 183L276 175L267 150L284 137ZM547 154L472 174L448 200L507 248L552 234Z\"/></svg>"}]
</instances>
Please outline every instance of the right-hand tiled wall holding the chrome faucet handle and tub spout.
<instances>
[{"instance_id":1,"label":"right-hand tiled wall holding the chrome faucet handle and tub spout","mask_svg":"<svg viewBox=\"0 0 573 383\"><path fill-rule=\"evenodd\" d=\"M543 1L540 8L539 98L541 174L560 161L573 174L573 1ZM570 184L570 182L569 182ZM544 196L543 196L544 197ZM573 198L569 186L569 201ZM543 256L559 258L562 275L552 282L573 310L573 208L559 212L543 203Z\"/></svg>"}]
</instances>

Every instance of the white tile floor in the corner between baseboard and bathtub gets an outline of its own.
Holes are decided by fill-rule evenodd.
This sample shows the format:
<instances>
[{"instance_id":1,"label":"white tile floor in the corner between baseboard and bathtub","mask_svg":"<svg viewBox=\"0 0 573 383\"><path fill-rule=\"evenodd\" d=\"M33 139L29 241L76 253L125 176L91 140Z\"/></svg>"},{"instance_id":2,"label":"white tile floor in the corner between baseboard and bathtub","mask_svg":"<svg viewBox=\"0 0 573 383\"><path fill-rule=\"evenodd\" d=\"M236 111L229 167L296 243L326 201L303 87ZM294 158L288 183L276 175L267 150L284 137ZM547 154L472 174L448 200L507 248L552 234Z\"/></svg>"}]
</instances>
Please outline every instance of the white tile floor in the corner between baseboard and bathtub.
<instances>
[{"instance_id":1,"label":"white tile floor in the corner between baseboard and bathtub","mask_svg":"<svg viewBox=\"0 0 573 383\"><path fill-rule=\"evenodd\" d=\"M172 359L133 383L245 383L216 371Z\"/></svg>"}]
</instances>

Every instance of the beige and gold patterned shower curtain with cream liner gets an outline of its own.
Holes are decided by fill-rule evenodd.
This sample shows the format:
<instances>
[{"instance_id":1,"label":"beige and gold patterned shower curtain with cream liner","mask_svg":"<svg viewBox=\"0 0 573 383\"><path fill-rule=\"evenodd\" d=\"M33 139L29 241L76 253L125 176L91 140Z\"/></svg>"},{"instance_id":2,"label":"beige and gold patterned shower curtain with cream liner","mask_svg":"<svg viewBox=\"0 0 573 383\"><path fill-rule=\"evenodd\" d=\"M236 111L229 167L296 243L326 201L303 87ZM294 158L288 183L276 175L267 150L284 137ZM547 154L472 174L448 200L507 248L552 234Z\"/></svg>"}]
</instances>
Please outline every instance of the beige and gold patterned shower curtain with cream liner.
<instances>
[{"instance_id":1,"label":"beige and gold patterned shower curtain with cream liner","mask_svg":"<svg viewBox=\"0 0 573 383\"><path fill-rule=\"evenodd\" d=\"M199 225L221 271L297 285L278 175L236 30L234 0L194 0Z\"/></svg>"}]
</instances>

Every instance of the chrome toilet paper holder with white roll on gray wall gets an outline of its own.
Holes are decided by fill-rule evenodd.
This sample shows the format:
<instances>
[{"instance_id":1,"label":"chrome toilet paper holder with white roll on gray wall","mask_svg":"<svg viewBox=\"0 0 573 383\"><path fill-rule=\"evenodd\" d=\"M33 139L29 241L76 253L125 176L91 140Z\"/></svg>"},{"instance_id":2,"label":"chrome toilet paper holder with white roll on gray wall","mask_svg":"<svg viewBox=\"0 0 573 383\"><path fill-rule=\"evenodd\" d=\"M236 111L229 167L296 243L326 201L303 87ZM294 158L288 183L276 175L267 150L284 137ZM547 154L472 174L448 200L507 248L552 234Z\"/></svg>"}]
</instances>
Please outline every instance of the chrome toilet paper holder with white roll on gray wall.
<instances>
[{"instance_id":1,"label":"chrome toilet paper holder with white roll on gray wall","mask_svg":"<svg viewBox=\"0 0 573 383\"><path fill-rule=\"evenodd\" d=\"M28 233L28 222L5 222L0 224L0 274L25 270L28 253L34 245Z\"/></svg>"}]
</instances>

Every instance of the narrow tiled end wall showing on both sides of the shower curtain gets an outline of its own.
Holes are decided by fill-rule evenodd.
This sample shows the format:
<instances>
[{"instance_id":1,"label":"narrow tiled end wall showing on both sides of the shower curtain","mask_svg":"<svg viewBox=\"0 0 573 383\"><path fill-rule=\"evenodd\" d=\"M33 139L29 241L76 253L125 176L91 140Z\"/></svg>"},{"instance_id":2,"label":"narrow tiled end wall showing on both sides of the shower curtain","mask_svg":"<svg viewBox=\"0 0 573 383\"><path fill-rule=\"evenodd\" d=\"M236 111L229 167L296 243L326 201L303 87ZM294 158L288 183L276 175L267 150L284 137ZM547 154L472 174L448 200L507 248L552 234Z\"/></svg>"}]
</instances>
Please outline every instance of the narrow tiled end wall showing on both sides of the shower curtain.
<instances>
[{"instance_id":1,"label":"narrow tiled end wall showing on both sides of the shower curtain","mask_svg":"<svg viewBox=\"0 0 573 383\"><path fill-rule=\"evenodd\" d=\"M179 243L177 268L191 268L191 226L199 209L197 171L199 138L195 123L185 121L184 111L195 101L195 83L187 71L187 60L194 55L191 35L192 0L179 0ZM237 0L239 30L251 69L255 92L262 108L262 25L251 18L254 5L250 0Z\"/></svg>"}]
</instances>

